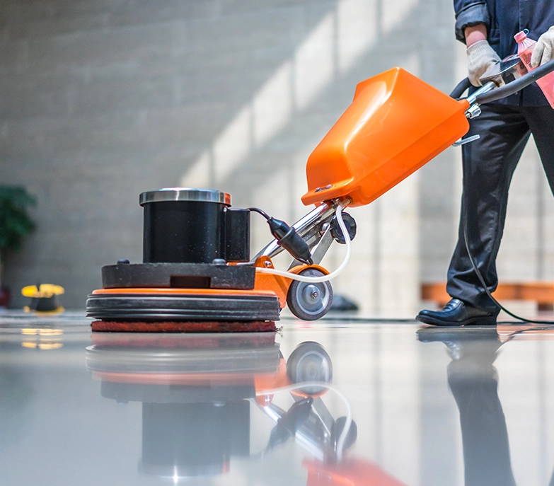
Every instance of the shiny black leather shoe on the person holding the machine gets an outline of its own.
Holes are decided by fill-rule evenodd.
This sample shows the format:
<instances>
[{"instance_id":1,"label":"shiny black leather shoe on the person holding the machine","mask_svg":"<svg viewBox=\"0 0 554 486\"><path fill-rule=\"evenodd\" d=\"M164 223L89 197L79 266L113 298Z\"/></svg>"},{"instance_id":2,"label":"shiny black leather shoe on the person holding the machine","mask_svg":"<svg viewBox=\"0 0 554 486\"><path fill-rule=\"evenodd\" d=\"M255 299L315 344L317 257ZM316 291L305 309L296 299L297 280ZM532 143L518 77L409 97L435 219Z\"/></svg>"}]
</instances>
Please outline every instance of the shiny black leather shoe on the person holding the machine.
<instances>
[{"instance_id":1,"label":"shiny black leather shoe on the person holding the machine","mask_svg":"<svg viewBox=\"0 0 554 486\"><path fill-rule=\"evenodd\" d=\"M484 311L460 299L451 299L442 311L424 309L415 318L422 323L433 325L496 325L497 315L497 311Z\"/></svg>"}]
</instances>

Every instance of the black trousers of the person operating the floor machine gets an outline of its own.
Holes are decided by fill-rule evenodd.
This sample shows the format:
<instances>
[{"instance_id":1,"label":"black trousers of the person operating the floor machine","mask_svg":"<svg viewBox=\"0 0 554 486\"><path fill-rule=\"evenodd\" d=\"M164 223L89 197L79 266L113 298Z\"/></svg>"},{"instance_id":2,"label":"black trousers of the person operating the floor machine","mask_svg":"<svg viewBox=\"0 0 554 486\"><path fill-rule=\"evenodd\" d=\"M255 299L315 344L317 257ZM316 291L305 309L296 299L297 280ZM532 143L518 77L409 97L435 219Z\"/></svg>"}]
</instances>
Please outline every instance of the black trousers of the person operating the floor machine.
<instances>
[{"instance_id":1,"label":"black trousers of the person operating the floor machine","mask_svg":"<svg viewBox=\"0 0 554 486\"><path fill-rule=\"evenodd\" d=\"M521 107L491 103L471 120L468 136L480 139L462 147L463 197L458 243L448 270L446 291L472 306L495 311L468 258L463 237L475 264L492 292L498 284L496 257L504 231L508 189L529 134L533 134L550 190L554 193L554 110L550 106Z\"/></svg>"}]
</instances>

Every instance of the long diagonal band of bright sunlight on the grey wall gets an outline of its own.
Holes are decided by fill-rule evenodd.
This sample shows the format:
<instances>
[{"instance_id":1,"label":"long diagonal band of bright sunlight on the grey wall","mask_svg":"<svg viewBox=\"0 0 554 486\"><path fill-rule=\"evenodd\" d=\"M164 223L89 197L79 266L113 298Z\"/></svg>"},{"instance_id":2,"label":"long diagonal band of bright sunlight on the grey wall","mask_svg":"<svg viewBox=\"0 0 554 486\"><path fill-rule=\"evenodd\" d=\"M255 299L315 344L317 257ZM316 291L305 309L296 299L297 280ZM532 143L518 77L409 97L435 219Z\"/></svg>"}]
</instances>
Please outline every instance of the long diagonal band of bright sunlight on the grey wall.
<instances>
[{"instance_id":1,"label":"long diagonal band of bright sunlight on the grey wall","mask_svg":"<svg viewBox=\"0 0 554 486\"><path fill-rule=\"evenodd\" d=\"M376 1L344 0L328 13L229 125L192 163L180 184L217 187L256 148L308 108L376 39Z\"/></svg>"}]
</instances>

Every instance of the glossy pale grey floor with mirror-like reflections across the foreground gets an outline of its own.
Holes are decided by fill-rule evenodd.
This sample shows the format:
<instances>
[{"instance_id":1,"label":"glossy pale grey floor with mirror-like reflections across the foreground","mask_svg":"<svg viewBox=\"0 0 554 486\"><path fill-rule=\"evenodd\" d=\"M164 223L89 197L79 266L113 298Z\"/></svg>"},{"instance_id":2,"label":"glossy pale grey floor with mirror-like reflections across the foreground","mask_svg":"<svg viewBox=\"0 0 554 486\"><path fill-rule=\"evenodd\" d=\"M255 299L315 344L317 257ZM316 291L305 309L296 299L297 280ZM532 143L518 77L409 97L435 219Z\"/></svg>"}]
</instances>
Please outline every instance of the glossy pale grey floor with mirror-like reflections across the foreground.
<instances>
[{"instance_id":1,"label":"glossy pale grey floor with mirror-like reflections across the foreground","mask_svg":"<svg viewBox=\"0 0 554 486\"><path fill-rule=\"evenodd\" d=\"M553 484L550 330L282 326L91 335L78 315L0 317L0 484ZM306 381L332 385L285 388Z\"/></svg>"}]
</instances>

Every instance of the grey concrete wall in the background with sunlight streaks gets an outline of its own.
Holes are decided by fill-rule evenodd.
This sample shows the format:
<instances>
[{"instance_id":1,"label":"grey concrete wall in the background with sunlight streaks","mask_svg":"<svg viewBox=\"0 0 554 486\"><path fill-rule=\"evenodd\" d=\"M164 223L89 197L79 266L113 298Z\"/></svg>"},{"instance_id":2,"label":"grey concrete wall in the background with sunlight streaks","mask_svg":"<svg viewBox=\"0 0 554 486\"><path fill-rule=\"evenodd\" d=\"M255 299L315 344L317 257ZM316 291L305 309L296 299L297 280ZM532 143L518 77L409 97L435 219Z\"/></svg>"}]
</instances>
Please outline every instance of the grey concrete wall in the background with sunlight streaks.
<instances>
[{"instance_id":1,"label":"grey concrete wall in the background with sunlight streaks","mask_svg":"<svg viewBox=\"0 0 554 486\"><path fill-rule=\"evenodd\" d=\"M443 91L465 76L449 1L4 1L0 182L39 201L8 284L16 294L61 284L62 303L83 308L102 265L142 259L144 190L212 187L234 206L298 219L307 156L356 83L392 66ZM500 277L552 279L554 203L534 149L521 166ZM420 282L445 278L460 193L460 155L449 149L352 209L359 236L335 291L364 315L411 316ZM270 237L253 223L257 250Z\"/></svg>"}]
</instances>

